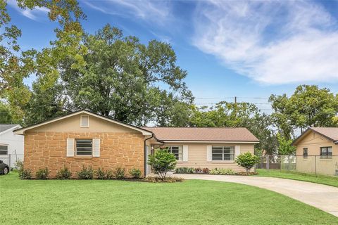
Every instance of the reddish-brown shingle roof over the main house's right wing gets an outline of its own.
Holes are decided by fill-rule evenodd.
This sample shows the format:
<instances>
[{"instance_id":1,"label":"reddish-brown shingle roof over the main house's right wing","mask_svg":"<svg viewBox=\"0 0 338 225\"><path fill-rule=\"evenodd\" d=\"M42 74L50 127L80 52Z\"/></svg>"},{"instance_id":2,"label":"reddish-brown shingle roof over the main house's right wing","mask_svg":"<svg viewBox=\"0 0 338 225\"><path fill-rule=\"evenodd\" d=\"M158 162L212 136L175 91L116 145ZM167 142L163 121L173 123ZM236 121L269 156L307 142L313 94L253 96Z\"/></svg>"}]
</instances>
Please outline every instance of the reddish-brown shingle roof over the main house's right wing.
<instances>
[{"instance_id":1,"label":"reddish-brown shingle roof over the main house's right wing","mask_svg":"<svg viewBox=\"0 0 338 225\"><path fill-rule=\"evenodd\" d=\"M144 127L152 131L160 141L239 141L254 142L259 140L243 127Z\"/></svg>"}]
</instances>

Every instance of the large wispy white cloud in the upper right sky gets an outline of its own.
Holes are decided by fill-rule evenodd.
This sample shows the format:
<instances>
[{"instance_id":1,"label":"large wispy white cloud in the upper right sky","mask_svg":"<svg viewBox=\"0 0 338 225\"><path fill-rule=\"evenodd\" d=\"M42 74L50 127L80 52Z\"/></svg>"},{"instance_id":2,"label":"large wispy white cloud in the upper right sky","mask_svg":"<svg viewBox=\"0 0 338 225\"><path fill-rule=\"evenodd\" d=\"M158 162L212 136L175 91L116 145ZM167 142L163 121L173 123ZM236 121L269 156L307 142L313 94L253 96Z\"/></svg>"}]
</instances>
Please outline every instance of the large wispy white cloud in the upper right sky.
<instances>
[{"instance_id":1,"label":"large wispy white cloud in the upper right sky","mask_svg":"<svg viewBox=\"0 0 338 225\"><path fill-rule=\"evenodd\" d=\"M265 84L338 81L337 21L311 1L201 1L194 45Z\"/></svg>"}]
</instances>

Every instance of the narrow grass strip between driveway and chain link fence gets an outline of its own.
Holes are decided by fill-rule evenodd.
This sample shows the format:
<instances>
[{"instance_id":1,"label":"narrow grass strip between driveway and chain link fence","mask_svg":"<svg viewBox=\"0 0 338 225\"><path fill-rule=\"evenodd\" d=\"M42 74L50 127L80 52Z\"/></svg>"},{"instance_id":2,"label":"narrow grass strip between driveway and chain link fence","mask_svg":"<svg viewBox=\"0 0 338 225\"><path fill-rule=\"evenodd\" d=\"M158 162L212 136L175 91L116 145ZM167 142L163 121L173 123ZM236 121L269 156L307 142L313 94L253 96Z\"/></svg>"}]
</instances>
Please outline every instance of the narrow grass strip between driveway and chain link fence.
<instances>
[{"instance_id":1,"label":"narrow grass strip between driveway and chain link fence","mask_svg":"<svg viewBox=\"0 0 338 225\"><path fill-rule=\"evenodd\" d=\"M293 180L299 180L299 181L308 181L308 182L326 184L326 185L338 187L337 176L303 174L303 173L298 173L298 172L280 171L279 169L269 169L269 170L257 169L257 172L258 172L258 175L256 176L279 177L279 178L293 179Z\"/></svg>"}]
</instances>

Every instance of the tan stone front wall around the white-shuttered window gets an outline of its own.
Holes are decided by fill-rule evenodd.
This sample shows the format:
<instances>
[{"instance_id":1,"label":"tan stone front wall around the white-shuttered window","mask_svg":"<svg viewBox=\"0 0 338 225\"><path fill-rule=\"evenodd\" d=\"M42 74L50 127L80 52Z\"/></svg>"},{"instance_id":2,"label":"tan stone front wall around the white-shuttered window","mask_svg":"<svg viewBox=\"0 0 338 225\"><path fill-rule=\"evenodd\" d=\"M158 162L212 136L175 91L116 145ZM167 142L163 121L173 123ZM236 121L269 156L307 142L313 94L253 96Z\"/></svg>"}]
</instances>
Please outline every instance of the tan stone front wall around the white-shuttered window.
<instances>
[{"instance_id":1,"label":"tan stone front wall around the white-shuttered window","mask_svg":"<svg viewBox=\"0 0 338 225\"><path fill-rule=\"evenodd\" d=\"M100 157L66 157L67 139L101 139ZM27 132L25 134L25 169L31 169L35 176L37 169L48 167L50 176L56 171L68 167L75 172L92 166L103 169L125 168L126 176L133 167L144 174L144 136L135 133L99 133L99 132Z\"/></svg>"}]
</instances>

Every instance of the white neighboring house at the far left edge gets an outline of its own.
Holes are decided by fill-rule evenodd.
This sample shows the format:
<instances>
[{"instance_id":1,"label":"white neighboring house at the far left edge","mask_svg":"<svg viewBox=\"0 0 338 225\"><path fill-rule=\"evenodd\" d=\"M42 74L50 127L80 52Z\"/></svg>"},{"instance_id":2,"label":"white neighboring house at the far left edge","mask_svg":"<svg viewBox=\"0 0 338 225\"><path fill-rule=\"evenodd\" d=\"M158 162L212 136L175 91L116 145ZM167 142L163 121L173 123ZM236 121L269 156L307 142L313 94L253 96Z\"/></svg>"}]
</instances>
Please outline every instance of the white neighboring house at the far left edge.
<instances>
[{"instance_id":1,"label":"white neighboring house at the far left edge","mask_svg":"<svg viewBox=\"0 0 338 225\"><path fill-rule=\"evenodd\" d=\"M0 124L0 160L14 167L16 160L23 160L23 136L13 134L19 124Z\"/></svg>"}]
</instances>

